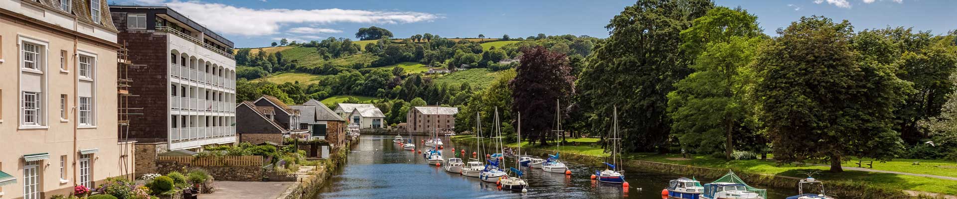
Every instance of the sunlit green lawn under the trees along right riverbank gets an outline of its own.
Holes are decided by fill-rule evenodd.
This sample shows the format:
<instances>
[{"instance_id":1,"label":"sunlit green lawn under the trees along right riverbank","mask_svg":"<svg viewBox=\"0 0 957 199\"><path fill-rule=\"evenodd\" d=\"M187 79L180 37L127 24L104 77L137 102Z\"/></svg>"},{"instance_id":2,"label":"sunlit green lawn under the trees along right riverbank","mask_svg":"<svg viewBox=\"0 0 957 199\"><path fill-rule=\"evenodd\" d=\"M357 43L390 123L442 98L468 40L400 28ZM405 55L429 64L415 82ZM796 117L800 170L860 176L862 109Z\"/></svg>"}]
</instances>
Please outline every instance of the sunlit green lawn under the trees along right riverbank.
<instances>
[{"instance_id":1,"label":"sunlit green lawn under the trees along right riverbank","mask_svg":"<svg viewBox=\"0 0 957 199\"><path fill-rule=\"evenodd\" d=\"M475 142L474 137L462 136L462 137L453 137L456 140L471 141ZM596 141L594 139L587 138L587 140L574 139L576 142L585 143L587 141ZM509 147L518 146L518 144L505 144ZM523 142L523 148L540 148L546 150L556 150L555 145L529 145L527 142ZM559 149L559 152L562 153L574 153L582 155L591 155L591 156L608 156L604 153L604 149L601 147L580 144L580 145L562 145ZM833 173L828 171L829 166L797 166L797 165L778 165L771 160L735 160L735 161L725 161L721 158L713 158L706 155L695 155L689 159L681 159L680 154L657 154L657 153L629 153L624 155L625 159L631 160L643 160L651 161L658 163L668 163L668 164L677 164L685 166L701 166L701 167L712 167L712 168L734 168L736 170L743 170L751 173L764 173L771 175L781 175L781 176L791 176L791 177L807 177L801 174L801 172L819 170L820 174L814 176L819 180L824 181L853 181L854 183L860 184L871 184L878 187L887 187L887 188L900 188L905 190L918 190L918 191L927 191L927 192L937 192L955 195L957 194L957 181L949 181L937 178L929 177L920 177L920 176L911 176L903 174L893 174L893 173L879 173L879 172L867 172L867 171L857 171L857 170L845 170L841 173ZM895 169L898 171L912 172L912 173L925 173L925 174L934 174L934 175L943 175L950 176L954 172L957 172L952 167L955 164L940 162L940 161L926 161L920 160L920 166L908 167L909 169L901 168L901 166L910 166L911 162L917 162L918 160L895 160L893 162L888 162L880 164L875 162L875 168L881 170L891 170ZM926 164L925 164L926 163ZM857 166L854 163L847 163L853 166ZM845 166L848 166L845 164ZM941 165L938 165L941 164ZM934 167L934 168L926 168ZM919 171L919 169L924 169L924 171ZM937 169L937 170L934 170ZM949 169L949 170L946 170Z\"/></svg>"}]
</instances>

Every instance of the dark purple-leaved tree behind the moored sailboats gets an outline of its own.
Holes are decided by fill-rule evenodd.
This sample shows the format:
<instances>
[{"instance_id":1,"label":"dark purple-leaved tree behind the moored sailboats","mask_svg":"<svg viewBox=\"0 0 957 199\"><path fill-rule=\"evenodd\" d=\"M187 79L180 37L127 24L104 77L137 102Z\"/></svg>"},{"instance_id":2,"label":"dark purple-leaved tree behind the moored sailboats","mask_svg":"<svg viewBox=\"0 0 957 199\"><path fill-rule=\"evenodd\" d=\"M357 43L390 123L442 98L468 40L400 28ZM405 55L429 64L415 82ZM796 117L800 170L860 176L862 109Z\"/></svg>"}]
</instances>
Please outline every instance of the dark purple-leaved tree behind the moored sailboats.
<instances>
[{"instance_id":1,"label":"dark purple-leaved tree behind the moored sailboats","mask_svg":"<svg viewBox=\"0 0 957 199\"><path fill-rule=\"evenodd\" d=\"M515 69L516 77L509 81L512 89L512 113L526 114L522 125L523 132L530 143L545 144L551 130L554 129L557 101L568 104L574 78L569 75L571 67L564 54L548 52L545 47L525 50L521 65ZM517 125L517 124L513 124Z\"/></svg>"}]
</instances>

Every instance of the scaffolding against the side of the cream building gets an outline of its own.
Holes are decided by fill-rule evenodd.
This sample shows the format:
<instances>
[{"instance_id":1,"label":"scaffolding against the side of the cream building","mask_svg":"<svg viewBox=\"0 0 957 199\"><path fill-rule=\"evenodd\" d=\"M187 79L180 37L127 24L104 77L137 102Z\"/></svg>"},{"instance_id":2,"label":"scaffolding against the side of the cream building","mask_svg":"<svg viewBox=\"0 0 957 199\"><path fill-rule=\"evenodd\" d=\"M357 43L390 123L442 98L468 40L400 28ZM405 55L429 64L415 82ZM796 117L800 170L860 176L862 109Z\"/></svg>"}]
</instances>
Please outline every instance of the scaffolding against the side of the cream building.
<instances>
[{"instance_id":1,"label":"scaffolding against the side of the cream building","mask_svg":"<svg viewBox=\"0 0 957 199\"><path fill-rule=\"evenodd\" d=\"M122 161L122 172L126 174L127 179L135 180L136 176L133 176L131 169L130 157L130 144L129 140L129 117L131 115L143 115L143 113L131 113L133 110L143 110L143 108L133 108L129 107L129 99L133 97L139 97L137 95L132 95L129 93L129 88L132 86L133 80L129 77L129 68L130 67L145 67L145 65L133 64L129 59L129 49L126 48L126 42L122 43L122 47L117 50L117 123L118 123L118 132L117 138L119 142L127 143L121 144L122 152L120 154L120 159Z\"/></svg>"}]
</instances>

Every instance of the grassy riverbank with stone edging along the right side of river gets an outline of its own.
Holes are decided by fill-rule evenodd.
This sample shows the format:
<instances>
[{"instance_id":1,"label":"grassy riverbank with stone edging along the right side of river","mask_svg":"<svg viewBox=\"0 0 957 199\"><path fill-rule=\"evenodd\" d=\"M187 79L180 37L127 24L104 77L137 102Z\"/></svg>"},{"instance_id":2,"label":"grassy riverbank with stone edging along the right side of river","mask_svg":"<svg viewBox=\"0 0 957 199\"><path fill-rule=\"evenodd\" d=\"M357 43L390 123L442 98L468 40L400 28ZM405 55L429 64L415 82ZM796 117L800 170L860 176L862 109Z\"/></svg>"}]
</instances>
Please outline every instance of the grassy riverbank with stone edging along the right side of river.
<instances>
[{"instance_id":1,"label":"grassy riverbank with stone edging along the right side of river","mask_svg":"<svg viewBox=\"0 0 957 199\"><path fill-rule=\"evenodd\" d=\"M454 137L456 144L474 145L475 139ZM509 147L518 144L506 144ZM523 151L529 155L545 157L554 154L556 147L530 146L523 143ZM559 151L562 159L590 166L601 166L605 162L604 149L591 144L563 145ZM957 181L946 181L920 176L893 173L878 173L849 170L831 173L827 166L782 165L768 160L724 161L707 156L681 158L677 154L634 153L625 155L624 167L657 170L686 176L707 178L721 177L728 169L733 170L743 180L754 186L772 188L796 188L801 172L821 171L814 177L824 180L829 193L839 198L912 198L924 192L953 195L957 193ZM904 191L913 190L913 191ZM922 197L934 198L934 197Z\"/></svg>"}]
</instances>

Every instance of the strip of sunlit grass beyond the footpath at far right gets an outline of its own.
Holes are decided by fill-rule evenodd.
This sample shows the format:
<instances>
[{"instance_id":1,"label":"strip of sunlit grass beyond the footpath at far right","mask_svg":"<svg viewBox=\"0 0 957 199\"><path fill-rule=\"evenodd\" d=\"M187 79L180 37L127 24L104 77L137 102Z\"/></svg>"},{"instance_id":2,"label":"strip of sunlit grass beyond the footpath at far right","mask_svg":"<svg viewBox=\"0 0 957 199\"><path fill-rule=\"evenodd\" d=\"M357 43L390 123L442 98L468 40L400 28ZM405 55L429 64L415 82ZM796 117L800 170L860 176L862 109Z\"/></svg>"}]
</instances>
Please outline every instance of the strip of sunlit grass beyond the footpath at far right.
<instances>
[{"instance_id":1,"label":"strip of sunlit grass beyond the footpath at far right","mask_svg":"<svg viewBox=\"0 0 957 199\"><path fill-rule=\"evenodd\" d=\"M874 161L874 164L873 164L874 169L878 169L878 170L939 175L939 176L957 178L957 163L949 162L949 161L894 159L888 162L881 163L879 161L875 161L874 159L869 159L869 158L864 158L864 159L854 158L854 160L852 161L844 162L842 166L857 167L857 160ZM913 166L911 165L913 162L921 162L921 165Z\"/></svg>"}]
</instances>

